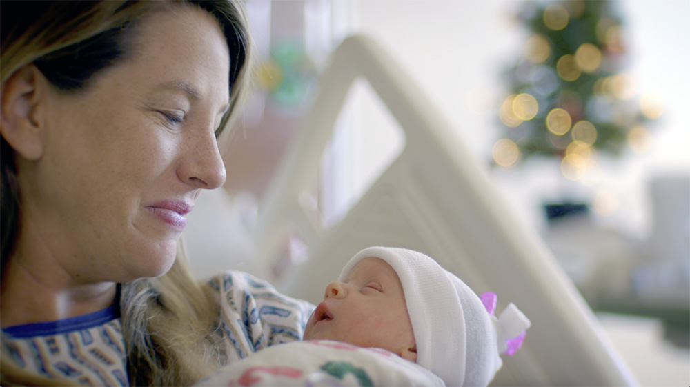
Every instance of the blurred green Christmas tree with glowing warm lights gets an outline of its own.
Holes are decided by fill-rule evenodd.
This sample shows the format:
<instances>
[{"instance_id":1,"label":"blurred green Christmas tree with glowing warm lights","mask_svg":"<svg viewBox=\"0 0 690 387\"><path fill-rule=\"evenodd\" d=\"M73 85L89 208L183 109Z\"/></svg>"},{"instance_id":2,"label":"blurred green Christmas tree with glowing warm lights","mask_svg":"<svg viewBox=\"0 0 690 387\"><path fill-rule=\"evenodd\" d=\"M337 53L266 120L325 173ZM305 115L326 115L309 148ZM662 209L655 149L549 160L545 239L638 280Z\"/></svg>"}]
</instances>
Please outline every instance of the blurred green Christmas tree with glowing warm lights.
<instances>
[{"instance_id":1,"label":"blurred green Christmas tree with glowing warm lights","mask_svg":"<svg viewBox=\"0 0 690 387\"><path fill-rule=\"evenodd\" d=\"M633 82L620 71L626 46L612 1L529 1L518 17L532 32L506 71L510 95L500 108L497 165L555 157L563 174L582 177L595 152L618 157L649 137ZM643 102L643 101L642 101Z\"/></svg>"}]
</instances>

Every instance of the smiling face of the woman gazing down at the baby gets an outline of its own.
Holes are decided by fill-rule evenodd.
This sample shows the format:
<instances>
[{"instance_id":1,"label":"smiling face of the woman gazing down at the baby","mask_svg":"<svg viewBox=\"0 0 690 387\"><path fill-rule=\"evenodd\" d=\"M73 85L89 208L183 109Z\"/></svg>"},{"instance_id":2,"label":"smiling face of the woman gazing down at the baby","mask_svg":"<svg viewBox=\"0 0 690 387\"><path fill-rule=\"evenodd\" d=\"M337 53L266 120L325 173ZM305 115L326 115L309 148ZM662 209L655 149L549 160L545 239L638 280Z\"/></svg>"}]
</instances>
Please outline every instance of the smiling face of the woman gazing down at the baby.
<instances>
[{"instance_id":1,"label":"smiling face of the woman gazing down at the baby","mask_svg":"<svg viewBox=\"0 0 690 387\"><path fill-rule=\"evenodd\" d=\"M199 192L226 177L214 132L230 56L217 21L179 7L133 32L127 59L86 90L48 93L43 155L20 165L21 237L81 281L164 274Z\"/></svg>"}]
</instances>

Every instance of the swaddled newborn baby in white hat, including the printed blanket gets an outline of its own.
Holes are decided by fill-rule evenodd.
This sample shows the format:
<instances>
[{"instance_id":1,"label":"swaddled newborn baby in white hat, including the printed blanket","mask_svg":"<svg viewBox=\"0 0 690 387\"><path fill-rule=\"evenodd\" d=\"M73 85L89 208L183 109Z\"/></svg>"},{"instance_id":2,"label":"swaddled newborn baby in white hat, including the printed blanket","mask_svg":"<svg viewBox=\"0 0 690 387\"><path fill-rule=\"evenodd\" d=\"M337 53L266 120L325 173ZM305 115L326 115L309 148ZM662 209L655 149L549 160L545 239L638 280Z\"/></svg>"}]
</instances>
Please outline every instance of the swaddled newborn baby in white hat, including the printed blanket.
<instances>
[{"instance_id":1,"label":"swaddled newborn baby in white hat, including the printed blanket","mask_svg":"<svg viewBox=\"0 0 690 387\"><path fill-rule=\"evenodd\" d=\"M306 325L199 386L486 386L529 328L510 304L477 295L430 257L402 248L357 253Z\"/></svg>"}]
</instances>

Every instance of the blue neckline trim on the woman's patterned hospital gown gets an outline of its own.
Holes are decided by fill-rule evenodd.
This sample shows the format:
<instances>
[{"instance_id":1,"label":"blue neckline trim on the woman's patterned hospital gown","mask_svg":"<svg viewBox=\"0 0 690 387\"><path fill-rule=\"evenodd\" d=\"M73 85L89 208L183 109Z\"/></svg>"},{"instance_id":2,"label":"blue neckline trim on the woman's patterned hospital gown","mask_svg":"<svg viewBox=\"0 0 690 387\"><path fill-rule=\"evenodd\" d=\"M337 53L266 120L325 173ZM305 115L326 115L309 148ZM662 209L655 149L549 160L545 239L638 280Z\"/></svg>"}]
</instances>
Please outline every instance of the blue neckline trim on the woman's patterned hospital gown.
<instances>
[{"instance_id":1,"label":"blue neckline trim on the woman's patterned hospital gown","mask_svg":"<svg viewBox=\"0 0 690 387\"><path fill-rule=\"evenodd\" d=\"M97 312L88 313L88 315L69 317L67 319L8 326L7 328L3 328L2 331L3 333L6 333L17 339L28 339L30 337L61 335L64 333L75 332L77 330L93 328L95 326L106 324L114 319L119 319L119 300L120 297L118 286L118 295L115 297L115 302L108 308L101 309Z\"/></svg>"}]
</instances>

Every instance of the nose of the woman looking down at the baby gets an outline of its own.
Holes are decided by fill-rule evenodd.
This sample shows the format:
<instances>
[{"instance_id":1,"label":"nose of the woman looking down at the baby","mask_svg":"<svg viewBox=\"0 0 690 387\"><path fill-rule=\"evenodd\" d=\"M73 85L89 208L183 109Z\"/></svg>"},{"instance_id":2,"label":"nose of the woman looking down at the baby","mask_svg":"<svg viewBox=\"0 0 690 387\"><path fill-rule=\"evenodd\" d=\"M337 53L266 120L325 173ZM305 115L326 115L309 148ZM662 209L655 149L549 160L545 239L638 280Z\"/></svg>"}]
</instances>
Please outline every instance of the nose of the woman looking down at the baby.
<instances>
[{"instance_id":1,"label":"nose of the woman looking down at the baby","mask_svg":"<svg viewBox=\"0 0 690 387\"><path fill-rule=\"evenodd\" d=\"M177 168L179 179L194 188L213 190L222 186L226 171L215 134L208 131L190 137L186 156Z\"/></svg>"}]
</instances>

